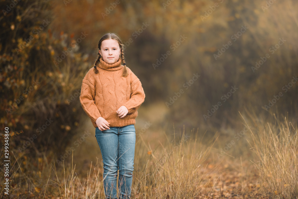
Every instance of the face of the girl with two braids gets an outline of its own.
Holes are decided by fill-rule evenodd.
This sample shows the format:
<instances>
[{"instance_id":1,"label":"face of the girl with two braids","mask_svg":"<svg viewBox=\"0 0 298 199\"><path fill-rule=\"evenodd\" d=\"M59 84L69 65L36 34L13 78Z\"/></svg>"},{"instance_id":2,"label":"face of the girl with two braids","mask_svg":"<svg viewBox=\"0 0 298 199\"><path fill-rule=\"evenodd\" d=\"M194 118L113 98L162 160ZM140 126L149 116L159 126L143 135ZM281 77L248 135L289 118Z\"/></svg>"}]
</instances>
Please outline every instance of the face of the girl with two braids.
<instances>
[{"instance_id":1,"label":"face of the girl with two braids","mask_svg":"<svg viewBox=\"0 0 298 199\"><path fill-rule=\"evenodd\" d=\"M115 63L120 56L119 43L115 39L105 39L101 42L100 50L98 50L98 52L106 63Z\"/></svg>"}]
</instances>

